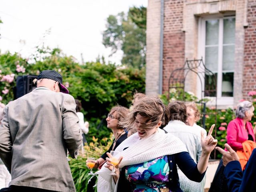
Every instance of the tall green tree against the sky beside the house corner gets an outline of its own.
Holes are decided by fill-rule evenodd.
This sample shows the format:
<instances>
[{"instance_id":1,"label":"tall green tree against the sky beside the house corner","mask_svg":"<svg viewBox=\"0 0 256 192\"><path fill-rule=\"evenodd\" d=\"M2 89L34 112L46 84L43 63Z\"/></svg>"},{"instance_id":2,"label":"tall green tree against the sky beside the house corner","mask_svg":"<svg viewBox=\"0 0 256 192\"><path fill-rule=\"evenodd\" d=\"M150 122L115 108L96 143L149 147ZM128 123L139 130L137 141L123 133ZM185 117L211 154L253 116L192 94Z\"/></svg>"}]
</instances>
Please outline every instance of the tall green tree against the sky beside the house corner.
<instances>
[{"instance_id":1,"label":"tall green tree against the sky beside the house corner","mask_svg":"<svg viewBox=\"0 0 256 192\"><path fill-rule=\"evenodd\" d=\"M103 44L123 51L122 64L142 68L146 64L146 8L130 8L128 14L121 12L107 18L103 32Z\"/></svg>"}]
</instances>

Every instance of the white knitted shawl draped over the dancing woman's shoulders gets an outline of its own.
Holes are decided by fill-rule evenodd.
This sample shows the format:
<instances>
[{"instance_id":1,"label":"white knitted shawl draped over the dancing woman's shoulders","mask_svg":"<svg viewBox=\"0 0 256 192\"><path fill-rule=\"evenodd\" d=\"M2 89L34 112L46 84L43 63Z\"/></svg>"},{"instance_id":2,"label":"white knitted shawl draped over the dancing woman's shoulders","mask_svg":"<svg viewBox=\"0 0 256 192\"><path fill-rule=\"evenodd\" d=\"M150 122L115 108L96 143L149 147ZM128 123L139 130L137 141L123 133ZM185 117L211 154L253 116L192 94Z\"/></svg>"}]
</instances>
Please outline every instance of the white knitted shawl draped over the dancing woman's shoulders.
<instances>
[{"instance_id":1,"label":"white knitted shawl draped over the dancing woman's shoulders","mask_svg":"<svg viewBox=\"0 0 256 192\"><path fill-rule=\"evenodd\" d=\"M124 150L124 148L127 149ZM158 128L156 133L141 140L138 133L133 134L124 140L116 148L116 151L122 152L123 160L120 166L122 168L126 165L139 164L160 156L176 154L187 150L179 138L170 133L166 134L164 130ZM96 173L98 174L98 192L116 192L118 182L115 184L108 168L102 166L101 170Z\"/></svg>"}]
</instances>

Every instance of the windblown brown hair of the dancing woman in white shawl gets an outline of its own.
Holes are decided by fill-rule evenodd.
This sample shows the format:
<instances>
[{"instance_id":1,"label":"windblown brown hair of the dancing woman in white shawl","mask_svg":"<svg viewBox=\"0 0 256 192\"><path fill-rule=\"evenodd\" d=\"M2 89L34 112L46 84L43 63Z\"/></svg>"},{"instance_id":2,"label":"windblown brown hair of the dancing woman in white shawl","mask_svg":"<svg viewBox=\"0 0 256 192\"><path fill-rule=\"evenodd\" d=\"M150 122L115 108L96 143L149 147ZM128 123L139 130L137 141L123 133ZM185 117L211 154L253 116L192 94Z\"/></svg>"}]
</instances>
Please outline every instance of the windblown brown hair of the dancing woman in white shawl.
<instances>
[{"instance_id":1,"label":"windblown brown hair of the dancing woman in white shawl","mask_svg":"<svg viewBox=\"0 0 256 192\"><path fill-rule=\"evenodd\" d=\"M127 130L133 129L135 128L134 122L136 116L140 114L142 117L146 118L146 121L140 123L140 126L144 129L151 129L156 127L160 121L162 121L162 124L166 124L165 112L166 107L160 98L145 96L134 105L133 110L120 124L126 127Z\"/></svg>"}]
</instances>

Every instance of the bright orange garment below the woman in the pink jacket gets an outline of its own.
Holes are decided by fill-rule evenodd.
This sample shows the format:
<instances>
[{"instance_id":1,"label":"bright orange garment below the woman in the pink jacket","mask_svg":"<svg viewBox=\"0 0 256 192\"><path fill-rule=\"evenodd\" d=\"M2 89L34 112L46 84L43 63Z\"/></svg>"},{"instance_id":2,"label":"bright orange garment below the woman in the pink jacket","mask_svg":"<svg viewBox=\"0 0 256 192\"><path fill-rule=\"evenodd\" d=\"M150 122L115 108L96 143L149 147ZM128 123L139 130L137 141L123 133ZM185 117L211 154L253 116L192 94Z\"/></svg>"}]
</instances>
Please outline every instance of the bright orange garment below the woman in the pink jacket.
<instances>
[{"instance_id":1,"label":"bright orange garment below the woman in the pink jacket","mask_svg":"<svg viewBox=\"0 0 256 192\"><path fill-rule=\"evenodd\" d=\"M252 150L256 148L256 143L251 140L246 140L242 143L243 151L236 151L236 153L239 156L239 162L241 164L242 170L245 169L246 163L248 162Z\"/></svg>"}]
</instances>

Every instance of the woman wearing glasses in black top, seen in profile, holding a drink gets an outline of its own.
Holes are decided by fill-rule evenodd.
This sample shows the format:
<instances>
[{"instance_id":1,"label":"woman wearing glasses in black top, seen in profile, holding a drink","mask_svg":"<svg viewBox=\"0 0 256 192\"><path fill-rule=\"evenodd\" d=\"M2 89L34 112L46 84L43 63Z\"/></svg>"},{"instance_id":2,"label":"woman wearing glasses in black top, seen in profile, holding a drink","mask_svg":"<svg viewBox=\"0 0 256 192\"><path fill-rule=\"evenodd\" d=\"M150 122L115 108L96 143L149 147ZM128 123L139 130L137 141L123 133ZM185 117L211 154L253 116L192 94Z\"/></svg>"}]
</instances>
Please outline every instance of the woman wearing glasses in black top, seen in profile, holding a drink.
<instances>
[{"instance_id":1,"label":"woman wearing glasses in black top, seen in profile, holding a drink","mask_svg":"<svg viewBox=\"0 0 256 192\"><path fill-rule=\"evenodd\" d=\"M110 152L111 150L115 150L117 146L127 138L127 132L124 130L123 126L119 124L119 122L124 120L128 113L128 108L122 106L115 106L110 110L108 117L106 118L107 127L112 129L115 138L108 151L102 154L100 158L95 160L94 168L100 169L106 161L106 157L108 157L106 153Z\"/></svg>"}]
</instances>

